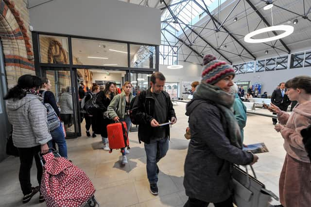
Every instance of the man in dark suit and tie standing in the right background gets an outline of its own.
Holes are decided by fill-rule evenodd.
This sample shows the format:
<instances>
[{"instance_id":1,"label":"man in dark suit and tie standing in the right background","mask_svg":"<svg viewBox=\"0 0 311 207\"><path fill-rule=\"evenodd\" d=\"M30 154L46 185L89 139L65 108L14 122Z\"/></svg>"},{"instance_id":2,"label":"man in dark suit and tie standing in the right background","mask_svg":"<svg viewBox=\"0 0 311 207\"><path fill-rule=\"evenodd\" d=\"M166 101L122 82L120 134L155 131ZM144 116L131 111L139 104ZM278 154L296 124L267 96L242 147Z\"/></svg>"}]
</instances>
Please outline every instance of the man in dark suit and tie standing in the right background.
<instances>
[{"instance_id":1,"label":"man in dark suit and tie standing in the right background","mask_svg":"<svg viewBox=\"0 0 311 207\"><path fill-rule=\"evenodd\" d=\"M271 103L276 105L280 110L282 111L287 111L287 107L291 104L290 99L288 96L285 94L287 89L285 88L285 83L281 82L280 83L280 88L276 89L273 91L271 95ZM273 113L276 114L276 113ZM276 125L277 119L272 118L273 124Z\"/></svg>"}]
</instances>

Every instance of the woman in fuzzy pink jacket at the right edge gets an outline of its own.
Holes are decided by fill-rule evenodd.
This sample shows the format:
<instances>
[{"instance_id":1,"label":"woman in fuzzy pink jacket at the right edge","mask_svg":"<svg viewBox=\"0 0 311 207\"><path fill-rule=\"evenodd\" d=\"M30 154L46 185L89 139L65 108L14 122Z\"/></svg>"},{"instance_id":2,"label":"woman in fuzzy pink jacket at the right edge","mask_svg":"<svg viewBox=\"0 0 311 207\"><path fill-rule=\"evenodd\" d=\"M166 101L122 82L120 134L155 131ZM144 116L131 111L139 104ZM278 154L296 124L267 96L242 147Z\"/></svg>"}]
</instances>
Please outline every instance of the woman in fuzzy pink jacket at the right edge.
<instances>
[{"instance_id":1,"label":"woman in fuzzy pink jacket at the right edge","mask_svg":"<svg viewBox=\"0 0 311 207\"><path fill-rule=\"evenodd\" d=\"M298 101L291 114L271 104L280 124L275 126L284 138L286 153L279 180L279 207L310 207L311 163L300 131L311 125L311 77L298 76L285 83L286 95Z\"/></svg>"}]
</instances>

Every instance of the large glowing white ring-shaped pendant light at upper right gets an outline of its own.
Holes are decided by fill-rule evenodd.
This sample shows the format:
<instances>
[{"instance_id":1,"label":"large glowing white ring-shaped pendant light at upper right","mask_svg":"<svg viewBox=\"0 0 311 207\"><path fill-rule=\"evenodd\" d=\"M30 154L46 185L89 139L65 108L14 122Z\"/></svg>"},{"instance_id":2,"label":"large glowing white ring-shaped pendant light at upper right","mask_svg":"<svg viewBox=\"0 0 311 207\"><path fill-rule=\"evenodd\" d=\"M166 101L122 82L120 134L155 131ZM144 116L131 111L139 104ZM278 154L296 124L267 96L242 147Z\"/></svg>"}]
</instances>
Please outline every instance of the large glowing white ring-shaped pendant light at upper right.
<instances>
[{"instance_id":1,"label":"large glowing white ring-shaped pendant light at upper right","mask_svg":"<svg viewBox=\"0 0 311 207\"><path fill-rule=\"evenodd\" d=\"M268 37L263 39L253 39L252 37L264 32L272 32L272 31L284 31L283 33L276 35L274 37ZM244 37L244 41L248 43L263 43L263 42L269 42L277 39L281 39L283 37L286 37L294 32L294 27L290 25L278 25L278 26L272 26L272 27L265 27L259 30L256 30L254 32L250 32L246 34Z\"/></svg>"}]
</instances>

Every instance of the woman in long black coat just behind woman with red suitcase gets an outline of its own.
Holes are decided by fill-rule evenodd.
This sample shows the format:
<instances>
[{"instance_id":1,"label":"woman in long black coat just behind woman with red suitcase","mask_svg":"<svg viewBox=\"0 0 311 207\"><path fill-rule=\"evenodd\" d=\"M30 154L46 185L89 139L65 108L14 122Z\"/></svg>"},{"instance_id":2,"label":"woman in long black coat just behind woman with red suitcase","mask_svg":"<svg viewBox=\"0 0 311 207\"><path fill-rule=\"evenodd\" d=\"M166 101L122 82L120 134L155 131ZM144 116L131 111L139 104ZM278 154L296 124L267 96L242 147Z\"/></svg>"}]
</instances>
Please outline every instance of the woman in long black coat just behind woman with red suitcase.
<instances>
[{"instance_id":1,"label":"woman in long black coat just behind woman with red suitcase","mask_svg":"<svg viewBox=\"0 0 311 207\"><path fill-rule=\"evenodd\" d=\"M94 114L95 133L101 134L104 143L103 149L105 151L110 150L108 144L107 125L111 124L112 120L108 115L107 109L111 100L115 96L115 87L116 86L113 82L106 83L104 91L100 91L96 98L96 103L99 105L100 111L99 113Z\"/></svg>"}]
</instances>

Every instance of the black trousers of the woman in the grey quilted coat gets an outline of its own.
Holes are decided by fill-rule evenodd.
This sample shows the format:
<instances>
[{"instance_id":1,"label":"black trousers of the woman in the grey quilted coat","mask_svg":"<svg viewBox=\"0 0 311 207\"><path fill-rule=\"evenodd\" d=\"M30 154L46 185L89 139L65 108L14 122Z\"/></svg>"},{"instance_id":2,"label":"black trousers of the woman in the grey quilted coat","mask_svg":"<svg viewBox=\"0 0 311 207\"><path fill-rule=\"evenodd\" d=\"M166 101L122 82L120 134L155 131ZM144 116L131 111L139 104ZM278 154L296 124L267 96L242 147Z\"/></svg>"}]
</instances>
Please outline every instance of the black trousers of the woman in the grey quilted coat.
<instances>
[{"instance_id":1,"label":"black trousers of the woman in the grey quilted coat","mask_svg":"<svg viewBox=\"0 0 311 207\"><path fill-rule=\"evenodd\" d=\"M30 148L18 148L20 167L19 167L19 183L21 191L24 195L32 192L32 185L30 182L30 170L33 165L33 160L35 158L35 166L37 168L37 180L39 186L41 184L42 177L42 165L40 163L39 152L41 151L41 146L34 146Z\"/></svg>"}]
</instances>

